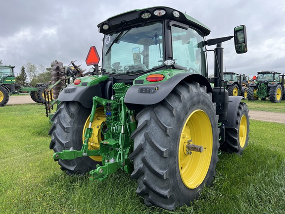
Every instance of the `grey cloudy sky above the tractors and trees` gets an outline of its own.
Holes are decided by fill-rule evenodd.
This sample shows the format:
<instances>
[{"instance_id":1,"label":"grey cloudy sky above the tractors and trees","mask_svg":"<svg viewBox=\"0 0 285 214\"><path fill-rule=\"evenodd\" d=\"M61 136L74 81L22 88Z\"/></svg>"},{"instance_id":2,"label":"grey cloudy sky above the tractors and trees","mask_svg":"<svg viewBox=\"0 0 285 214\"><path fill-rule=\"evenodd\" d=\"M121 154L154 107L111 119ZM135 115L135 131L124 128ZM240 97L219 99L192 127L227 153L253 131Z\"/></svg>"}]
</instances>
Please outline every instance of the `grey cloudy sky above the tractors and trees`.
<instances>
[{"instance_id":1,"label":"grey cloudy sky above the tractors and trees","mask_svg":"<svg viewBox=\"0 0 285 214\"><path fill-rule=\"evenodd\" d=\"M101 53L97 24L110 16L150 6L186 12L211 29L207 39L233 35L244 24L248 52L236 54L234 41L223 43L224 69L252 77L258 71L285 73L285 0L0 0L0 60L16 66L31 62L49 67L54 60L85 63L89 48ZM213 49L214 47L208 47ZM208 54L213 73L213 54Z\"/></svg>"}]
</instances>

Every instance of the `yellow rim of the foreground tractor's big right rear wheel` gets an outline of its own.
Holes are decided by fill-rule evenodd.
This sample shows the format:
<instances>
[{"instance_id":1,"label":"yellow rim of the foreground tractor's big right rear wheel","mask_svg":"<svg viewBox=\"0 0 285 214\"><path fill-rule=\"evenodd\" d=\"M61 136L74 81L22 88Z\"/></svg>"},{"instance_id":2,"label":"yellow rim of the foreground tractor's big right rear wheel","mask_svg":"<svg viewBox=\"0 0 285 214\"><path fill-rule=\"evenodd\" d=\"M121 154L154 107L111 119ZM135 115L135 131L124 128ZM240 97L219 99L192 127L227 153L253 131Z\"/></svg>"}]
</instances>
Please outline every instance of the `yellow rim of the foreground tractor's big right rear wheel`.
<instances>
[{"instance_id":1,"label":"yellow rim of the foreground tractor's big right rear wheel","mask_svg":"<svg viewBox=\"0 0 285 214\"><path fill-rule=\"evenodd\" d=\"M188 144L201 146L203 151L187 149ZM205 179L212 157L213 133L208 115L203 110L193 111L187 118L180 136L178 162L183 183L197 188Z\"/></svg>"}]
</instances>

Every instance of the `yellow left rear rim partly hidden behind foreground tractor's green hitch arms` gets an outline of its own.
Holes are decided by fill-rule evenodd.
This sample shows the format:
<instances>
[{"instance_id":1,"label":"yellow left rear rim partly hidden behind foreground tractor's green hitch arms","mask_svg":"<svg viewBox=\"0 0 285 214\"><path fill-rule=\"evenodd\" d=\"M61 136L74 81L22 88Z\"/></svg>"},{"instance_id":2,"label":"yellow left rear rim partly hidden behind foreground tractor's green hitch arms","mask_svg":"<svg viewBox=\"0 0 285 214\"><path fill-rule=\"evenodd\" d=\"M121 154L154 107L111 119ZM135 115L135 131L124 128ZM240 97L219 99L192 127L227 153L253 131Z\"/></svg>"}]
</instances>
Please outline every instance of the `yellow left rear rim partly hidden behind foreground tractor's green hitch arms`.
<instances>
[{"instance_id":1,"label":"yellow left rear rim partly hidden behind foreground tractor's green hitch arms","mask_svg":"<svg viewBox=\"0 0 285 214\"><path fill-rule=\"evenodd\" d=\"M92 122L91 128L93 128L93 132L92 132L92 136L91 138L89 138L89 142L88 142L88 149L89 150L95 150L95 149L99 149L100 145L99 142L104 140L104 136L101 133L101 125L105 122L106 120L106 116L104 113L104 108L103 107L98 107L96 109L96 113L95 113L95 117L94 120ZM87 118L84 128L83 128L83 133L82 133L82 142L84 143L84 133L85 130L88 128L90 123L90 116ZM101 156L90 156L90 158L92 158L95 161L102 161L102 157Z\"/></svg>"}]
</instances>

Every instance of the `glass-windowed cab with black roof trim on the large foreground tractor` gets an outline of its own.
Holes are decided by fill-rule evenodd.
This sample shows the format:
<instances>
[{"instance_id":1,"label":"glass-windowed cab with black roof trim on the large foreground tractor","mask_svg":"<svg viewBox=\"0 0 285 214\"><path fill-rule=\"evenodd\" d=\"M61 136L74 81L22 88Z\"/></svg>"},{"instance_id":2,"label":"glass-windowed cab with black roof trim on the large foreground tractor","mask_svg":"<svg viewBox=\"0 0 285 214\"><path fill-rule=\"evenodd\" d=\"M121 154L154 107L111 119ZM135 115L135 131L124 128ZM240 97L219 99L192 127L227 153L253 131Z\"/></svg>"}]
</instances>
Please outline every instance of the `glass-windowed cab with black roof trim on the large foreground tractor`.
<instances>
[{"instance_id":1,"label":"glass-windowed cab with black roof trim on the large foreground tractor","mask_svg":"<svg viewBox=\"0 0 285 214\"><path fill-rule=\"evenodd\" d=\"M98 24L104 34L102 74L131 83L169 68L207 76L204 36L210 29L197 20L168 7L129 11L117 20Z\"/></svg>"}]
</instances>

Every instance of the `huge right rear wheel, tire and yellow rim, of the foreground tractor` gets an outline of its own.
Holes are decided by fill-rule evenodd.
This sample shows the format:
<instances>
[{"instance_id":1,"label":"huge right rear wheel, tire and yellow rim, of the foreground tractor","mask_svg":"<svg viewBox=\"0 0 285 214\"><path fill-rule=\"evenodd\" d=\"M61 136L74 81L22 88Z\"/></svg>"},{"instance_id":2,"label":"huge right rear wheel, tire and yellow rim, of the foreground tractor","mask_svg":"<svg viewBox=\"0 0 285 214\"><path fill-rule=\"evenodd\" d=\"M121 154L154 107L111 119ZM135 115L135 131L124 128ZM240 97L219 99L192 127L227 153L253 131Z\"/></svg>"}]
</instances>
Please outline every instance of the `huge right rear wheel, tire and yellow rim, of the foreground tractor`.
<instances>
[{"instance_id":1,"label":"huge right rear wheel, tire and yellow rim, of the foreground tractor","mask_svg":"<svg viewBox=\"0 0 285 214\"><path fill-rule=\"evenodd\" d=\"M211 184L219 148L215 108L205 86L183 82L137 115L131 178L147 206L189 206ZM187 150L188 144L201 146L203 152Z\"/></svg>"}]
</instances>

